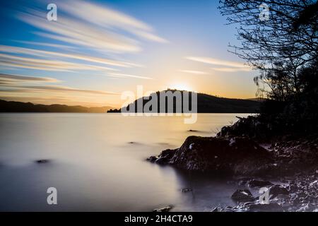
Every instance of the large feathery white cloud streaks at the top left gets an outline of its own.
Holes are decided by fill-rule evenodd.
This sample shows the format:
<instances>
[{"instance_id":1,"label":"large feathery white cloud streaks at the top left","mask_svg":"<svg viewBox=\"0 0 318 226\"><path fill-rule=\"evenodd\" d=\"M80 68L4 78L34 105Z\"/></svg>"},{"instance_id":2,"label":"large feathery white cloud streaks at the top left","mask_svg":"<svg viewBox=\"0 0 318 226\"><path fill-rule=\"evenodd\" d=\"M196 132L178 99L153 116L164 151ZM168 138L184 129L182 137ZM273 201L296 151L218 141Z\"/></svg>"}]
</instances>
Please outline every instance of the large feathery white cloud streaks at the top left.
<instances>
[{"instance_id":1,"label":"large feathery white cloud streaks at the top left","mask_svg":"<svg viewBox=\"0 0 318 226\"><path fill-rule=\"evenodd\" d=\"M153 28L141 20L84 1L61 1L59 11L64 13L59 13L57 21L48 21L46 12L34 8L25 11L18 13L18 18L46 31L37 32L38 35L99 52L140 52L137 37L152 42L167 42L155 35Z\"/></svg>"}]
</instances>

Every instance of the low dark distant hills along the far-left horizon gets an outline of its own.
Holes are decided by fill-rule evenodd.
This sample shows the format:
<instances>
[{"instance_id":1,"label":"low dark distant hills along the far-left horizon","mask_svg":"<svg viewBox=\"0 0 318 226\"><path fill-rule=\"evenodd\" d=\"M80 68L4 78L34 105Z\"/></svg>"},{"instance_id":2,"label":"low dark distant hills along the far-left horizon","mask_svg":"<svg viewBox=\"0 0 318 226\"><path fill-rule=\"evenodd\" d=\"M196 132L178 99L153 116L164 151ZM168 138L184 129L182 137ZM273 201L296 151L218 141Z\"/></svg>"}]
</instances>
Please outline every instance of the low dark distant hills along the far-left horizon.
<instances>
[{"instance_id":1,"label":"low dark distant hills along the far-left horizon","mask_svg":"<svg viewBox=\"0 0 318 226\"><path fill-rule=\"evenodd\" d=\"M68 105L34 105L30 102L0 100L0 112L72 112L106 113L111 107L82 107Z\"/></svg>"}]
</instances>

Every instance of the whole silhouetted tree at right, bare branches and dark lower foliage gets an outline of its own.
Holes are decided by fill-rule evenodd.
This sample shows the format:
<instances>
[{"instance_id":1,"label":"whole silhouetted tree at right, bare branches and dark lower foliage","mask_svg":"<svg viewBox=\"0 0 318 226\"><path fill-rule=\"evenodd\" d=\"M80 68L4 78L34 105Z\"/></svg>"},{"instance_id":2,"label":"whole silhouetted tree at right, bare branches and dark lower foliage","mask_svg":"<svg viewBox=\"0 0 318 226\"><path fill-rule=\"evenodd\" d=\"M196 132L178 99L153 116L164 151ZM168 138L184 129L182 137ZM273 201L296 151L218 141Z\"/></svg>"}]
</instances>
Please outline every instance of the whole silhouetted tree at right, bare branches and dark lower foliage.
<instances>
[{"instance_id":1,"label":"whole silhouetted tree at right, bare branches and dark lower foliage","mask_svg":"<svg viewBox=\"0 0 318 226\"><path fill-rule=\"evenodd\" d=\"M271 131L318 129L317 18L314 0L221 0L220 12L237 24L240 45L230 52L257 69L259 119Z\"/></svg>"}]
</instances>

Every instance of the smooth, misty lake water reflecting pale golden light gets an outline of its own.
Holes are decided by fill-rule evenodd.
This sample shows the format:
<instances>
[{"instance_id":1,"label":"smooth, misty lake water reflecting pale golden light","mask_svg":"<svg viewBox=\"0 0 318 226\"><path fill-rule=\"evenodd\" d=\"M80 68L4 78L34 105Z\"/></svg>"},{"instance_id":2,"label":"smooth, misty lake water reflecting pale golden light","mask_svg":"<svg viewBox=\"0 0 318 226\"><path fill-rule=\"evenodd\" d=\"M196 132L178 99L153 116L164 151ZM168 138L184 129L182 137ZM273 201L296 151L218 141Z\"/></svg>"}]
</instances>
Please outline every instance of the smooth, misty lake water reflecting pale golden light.
<instances>
[{"instance_id":1,"label":"smooth, misty lake water reflecting pale golden light","mask_svg":"<svg viewBox=\"0 0 318 226\"><path fill-rule=\"evenodd\" d=\"M146 162L187 136L214 136L246 114L122 117L121 114L0 114L0 210L205 211L233 205L235 184ZM189 129L199 132L189 132ZM51 160L37 164L35 160ZM47 205L47 188L57 205ZM194 192L180 189L192 187Z\"/></svg>"}]
</instances>

